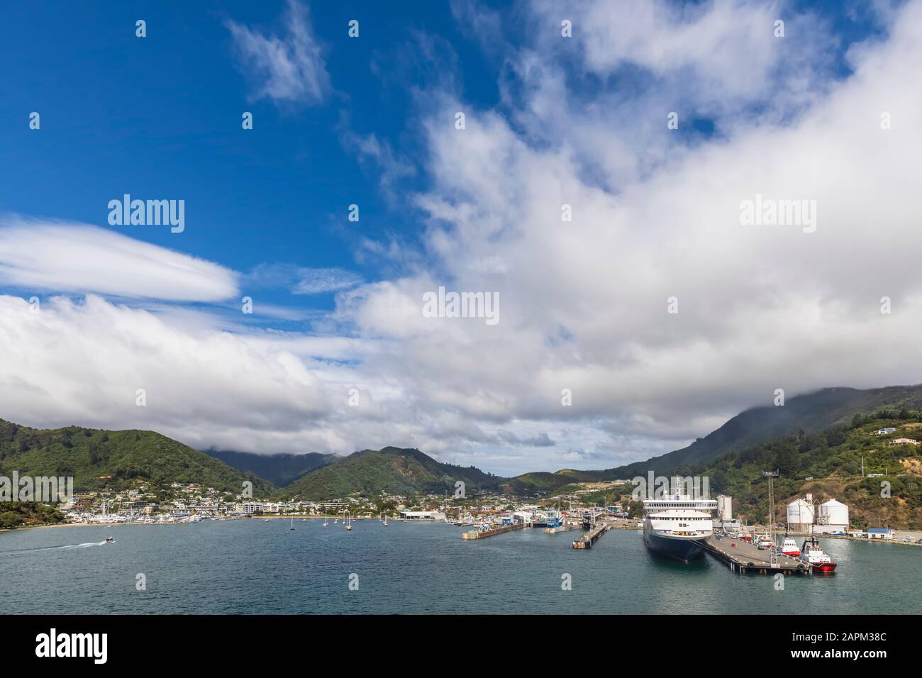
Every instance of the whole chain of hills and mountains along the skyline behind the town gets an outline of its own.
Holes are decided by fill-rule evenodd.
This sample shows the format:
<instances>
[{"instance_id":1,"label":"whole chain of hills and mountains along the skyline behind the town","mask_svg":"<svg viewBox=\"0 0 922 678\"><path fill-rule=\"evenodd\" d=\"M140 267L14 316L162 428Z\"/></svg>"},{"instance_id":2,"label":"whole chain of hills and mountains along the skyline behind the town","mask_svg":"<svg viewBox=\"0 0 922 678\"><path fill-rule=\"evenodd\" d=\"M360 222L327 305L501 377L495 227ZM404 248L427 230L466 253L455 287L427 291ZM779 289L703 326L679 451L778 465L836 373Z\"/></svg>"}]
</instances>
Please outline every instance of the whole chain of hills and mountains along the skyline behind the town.
<instances>
[{"instance_id":1,"label":"whole chain of hills and mountains along the skyline behind the town","mask_svg":"<svg viewBox=\"0 0 922 678\"><path fill-rule=\"evenodd\" d=\"M815 434L857 414L881 407L922 410L922 386L875 389L833 387L789 398L783 407L743 410L690 446L666 455L608 470L532 471L507 478L470 466L446 464L413 447L384 446L346 457L307 453L272 460L252 453L195 450L165 435L134 429L105 431L67 426L32 429L0 420L0 471L15 460L20 473L75 475L75 483L97 487L104 476L116 481L145 478L155 482L201 482L239 492L245 480L254 492L327 499L349 494L454 494L457 482L466 492L504 494L551 492L573 482L626 480L655 470L659 475L706 468L729 453L802 431ZM223 457L223 459L221 458ZM240 464L234 466L229 461ZM265 464L282 482L279 488L254 471ZM312 468L313 466L313 468ZM288 482L285 482L288 481Z\"/></svg>"}]
</instances>

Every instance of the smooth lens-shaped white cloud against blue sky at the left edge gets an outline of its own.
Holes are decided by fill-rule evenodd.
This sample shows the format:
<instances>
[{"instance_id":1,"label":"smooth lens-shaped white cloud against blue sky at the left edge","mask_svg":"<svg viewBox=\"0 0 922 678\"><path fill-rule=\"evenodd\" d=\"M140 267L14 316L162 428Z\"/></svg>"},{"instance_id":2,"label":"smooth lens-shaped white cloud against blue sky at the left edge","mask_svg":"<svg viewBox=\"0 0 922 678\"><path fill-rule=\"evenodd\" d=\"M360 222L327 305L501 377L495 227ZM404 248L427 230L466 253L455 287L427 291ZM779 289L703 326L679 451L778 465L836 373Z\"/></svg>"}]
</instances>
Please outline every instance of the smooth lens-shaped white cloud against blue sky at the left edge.
<instances>
[{"instance_id":1,"label":"smooth lens-shaped white cloud against blue sky at the left edge","mask_svg":"<svg viewBox=\"0 0 922 678\"><path fill-rule=\"evenodd\" d=\"M215 302L237 294L228 268L87 224L0 220L0 281L30 291Z\"/></svg>"}]
</instances>

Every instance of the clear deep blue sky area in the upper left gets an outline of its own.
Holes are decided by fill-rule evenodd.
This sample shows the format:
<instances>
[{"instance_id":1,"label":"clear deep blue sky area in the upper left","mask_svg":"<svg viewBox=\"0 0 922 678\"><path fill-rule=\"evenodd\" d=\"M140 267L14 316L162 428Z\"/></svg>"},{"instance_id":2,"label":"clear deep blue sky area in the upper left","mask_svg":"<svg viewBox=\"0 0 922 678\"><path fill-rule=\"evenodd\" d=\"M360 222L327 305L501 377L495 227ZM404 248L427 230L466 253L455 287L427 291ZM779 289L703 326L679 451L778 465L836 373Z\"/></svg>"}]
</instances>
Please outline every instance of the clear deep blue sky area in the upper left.
<instances>
[{"instance_id":1,"label":"clear deep blue sky area in the upper left","mask_svg":"<svg viewBox=\"0 0 922 678\"><path fill-rule=\"evenodd\" d=\"M398 232L412 242L420 222L388 203L380 169L363 165L349 140L373 134L408 159L420 150L414 90L431 87L442 65L425 61L418 42L450 42L442 51L464 65L455 77L470 83L465 96L487 105L496 96L489 65L448 4L405 14L380 3L313 4L310 23L331 83L323 101L255 99L246 66L233 57L226 22L284 35L284 3L9 11L0 29L12 59L0 125L7 168L17 171L6 172L0 208L107 227L106 204L125 192L183 198L190 227L181 238L146 226L121 232L242 272L278 262L343 268L364 280L394 273L357 261L359 239ZM147 21L144 39L135 35L137 18ZM347 35L351 18L361 18L359 39ZM41 135L21 124L31 111L41 113ZM244 111L254 113L253 130L241 128ZM422 172L404 178L408 190L424 182ZM361 229L346 219L353 203ZM332 305L331 294L259 297Z\"/></svg>"}]
</instances>

